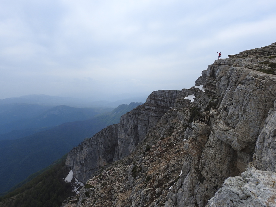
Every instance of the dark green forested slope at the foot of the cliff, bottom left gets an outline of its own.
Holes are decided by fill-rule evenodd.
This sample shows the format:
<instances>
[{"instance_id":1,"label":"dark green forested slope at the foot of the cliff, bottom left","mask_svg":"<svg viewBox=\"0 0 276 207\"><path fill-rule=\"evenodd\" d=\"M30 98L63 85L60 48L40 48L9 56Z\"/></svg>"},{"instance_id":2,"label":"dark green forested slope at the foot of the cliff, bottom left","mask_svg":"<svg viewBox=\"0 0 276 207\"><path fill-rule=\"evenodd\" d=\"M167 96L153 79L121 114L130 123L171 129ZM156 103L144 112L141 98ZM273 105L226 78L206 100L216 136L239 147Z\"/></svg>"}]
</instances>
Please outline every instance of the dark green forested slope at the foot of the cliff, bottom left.
<instances>
[{"instance_id":1,"label":"dark green forested slope at the foot of the cliff, bottom left","mask_svg":"<svg viewBox=\"0 0 276 207\"><path fill-rule=\"evenodd\" d=\"M49 169L23 184L20 188L0 197L1 207L59 207L65 198L73 195L70 183L63 178L68 170L66 157L60 159Z\"/></svg>"}]
</instances>

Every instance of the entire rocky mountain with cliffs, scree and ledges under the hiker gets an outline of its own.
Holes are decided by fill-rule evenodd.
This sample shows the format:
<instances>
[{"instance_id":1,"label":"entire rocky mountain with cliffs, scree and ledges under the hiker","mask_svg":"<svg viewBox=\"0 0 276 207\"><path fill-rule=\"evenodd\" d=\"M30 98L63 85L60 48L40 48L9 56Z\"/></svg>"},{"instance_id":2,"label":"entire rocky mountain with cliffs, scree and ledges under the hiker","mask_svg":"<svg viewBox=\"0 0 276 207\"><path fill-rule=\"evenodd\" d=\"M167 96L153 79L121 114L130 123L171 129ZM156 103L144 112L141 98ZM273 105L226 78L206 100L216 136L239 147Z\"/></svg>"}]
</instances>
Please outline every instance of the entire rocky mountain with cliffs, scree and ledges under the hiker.
<instances>
[{"instance_id":1,"label":"entire rocky mountain with cliffs, scree and ledges under the hiker","mask_svg":"<svg viewBox=\"0 0 276 207\"><path fill-rule=\"evenodd\" d=\"M276 206L276 43L218 59L70 151L66 207Z\"/></svg>"}]
</instances>

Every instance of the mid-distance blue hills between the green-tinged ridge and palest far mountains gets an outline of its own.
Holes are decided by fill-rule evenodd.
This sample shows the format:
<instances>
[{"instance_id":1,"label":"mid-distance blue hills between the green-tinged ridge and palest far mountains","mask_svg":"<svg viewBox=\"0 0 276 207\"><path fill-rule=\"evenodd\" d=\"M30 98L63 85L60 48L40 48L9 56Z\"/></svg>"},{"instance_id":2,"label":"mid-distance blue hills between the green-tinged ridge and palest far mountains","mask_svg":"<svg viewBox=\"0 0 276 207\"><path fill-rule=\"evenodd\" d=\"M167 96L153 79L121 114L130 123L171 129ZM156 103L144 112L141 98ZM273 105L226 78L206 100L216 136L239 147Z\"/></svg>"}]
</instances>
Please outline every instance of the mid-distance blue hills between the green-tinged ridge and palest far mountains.
<instances>
[{"instance_id":1,"label":"mid-distance blue hills between the green-tinged ridge and palest far mountains","mask_svg":"<svg viewBox=\"0 0 276 207\"><path fill-rule=\"evenodd\" d=\"M112 111L112 108L74 108L62 105L50 108L49 106L38 104L18 103L0 105L0 134L17 130L7 134L7 137L5 137L5 135L0 135L0 140L17 139L19 138L18 135L20 136L20 134L26 134L26 129L28 129L28 132L30 133L35 133L35 131L46 130L47 127L58 126L66 122L87 120L97 114L110 111ZM22 135L20 137L22 137Z\"/></svg>"}]
</instances>

